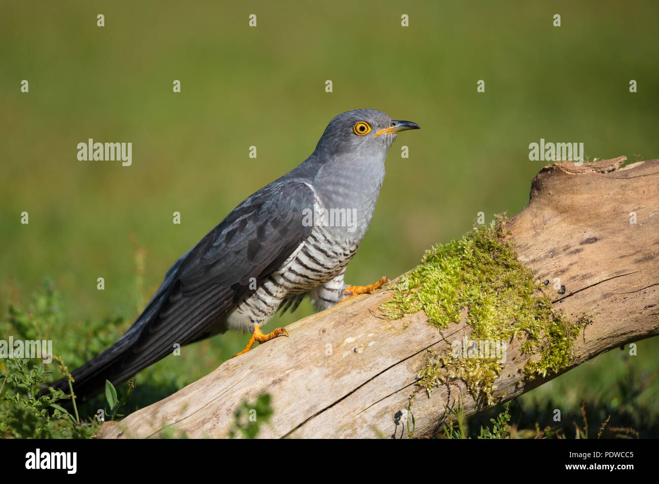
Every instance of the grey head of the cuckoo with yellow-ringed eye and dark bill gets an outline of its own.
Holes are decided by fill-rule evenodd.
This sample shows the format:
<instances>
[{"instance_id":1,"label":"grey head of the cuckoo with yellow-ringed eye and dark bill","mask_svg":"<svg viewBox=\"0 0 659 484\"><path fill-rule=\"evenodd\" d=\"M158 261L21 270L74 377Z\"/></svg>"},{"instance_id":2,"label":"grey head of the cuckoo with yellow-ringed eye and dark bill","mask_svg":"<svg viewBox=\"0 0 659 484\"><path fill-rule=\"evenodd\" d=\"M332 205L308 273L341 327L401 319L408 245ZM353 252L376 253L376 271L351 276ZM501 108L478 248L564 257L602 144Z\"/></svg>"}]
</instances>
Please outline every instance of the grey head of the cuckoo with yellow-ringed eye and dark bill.
<instances>
[{"instance_id":1,"label":"grey head of the cuckoo with yellow-ringed eye and dark bill","mask_svg":"<svg viewBox=\"0 0 659 484\"><path fill-rule=\"evenodd\" d=\"M329 122L316 153L331 157L382 157L384 161L397 132L419 128L415 122L396 121L375 109L347 111Z\"/></svg>"}]
</instances>

